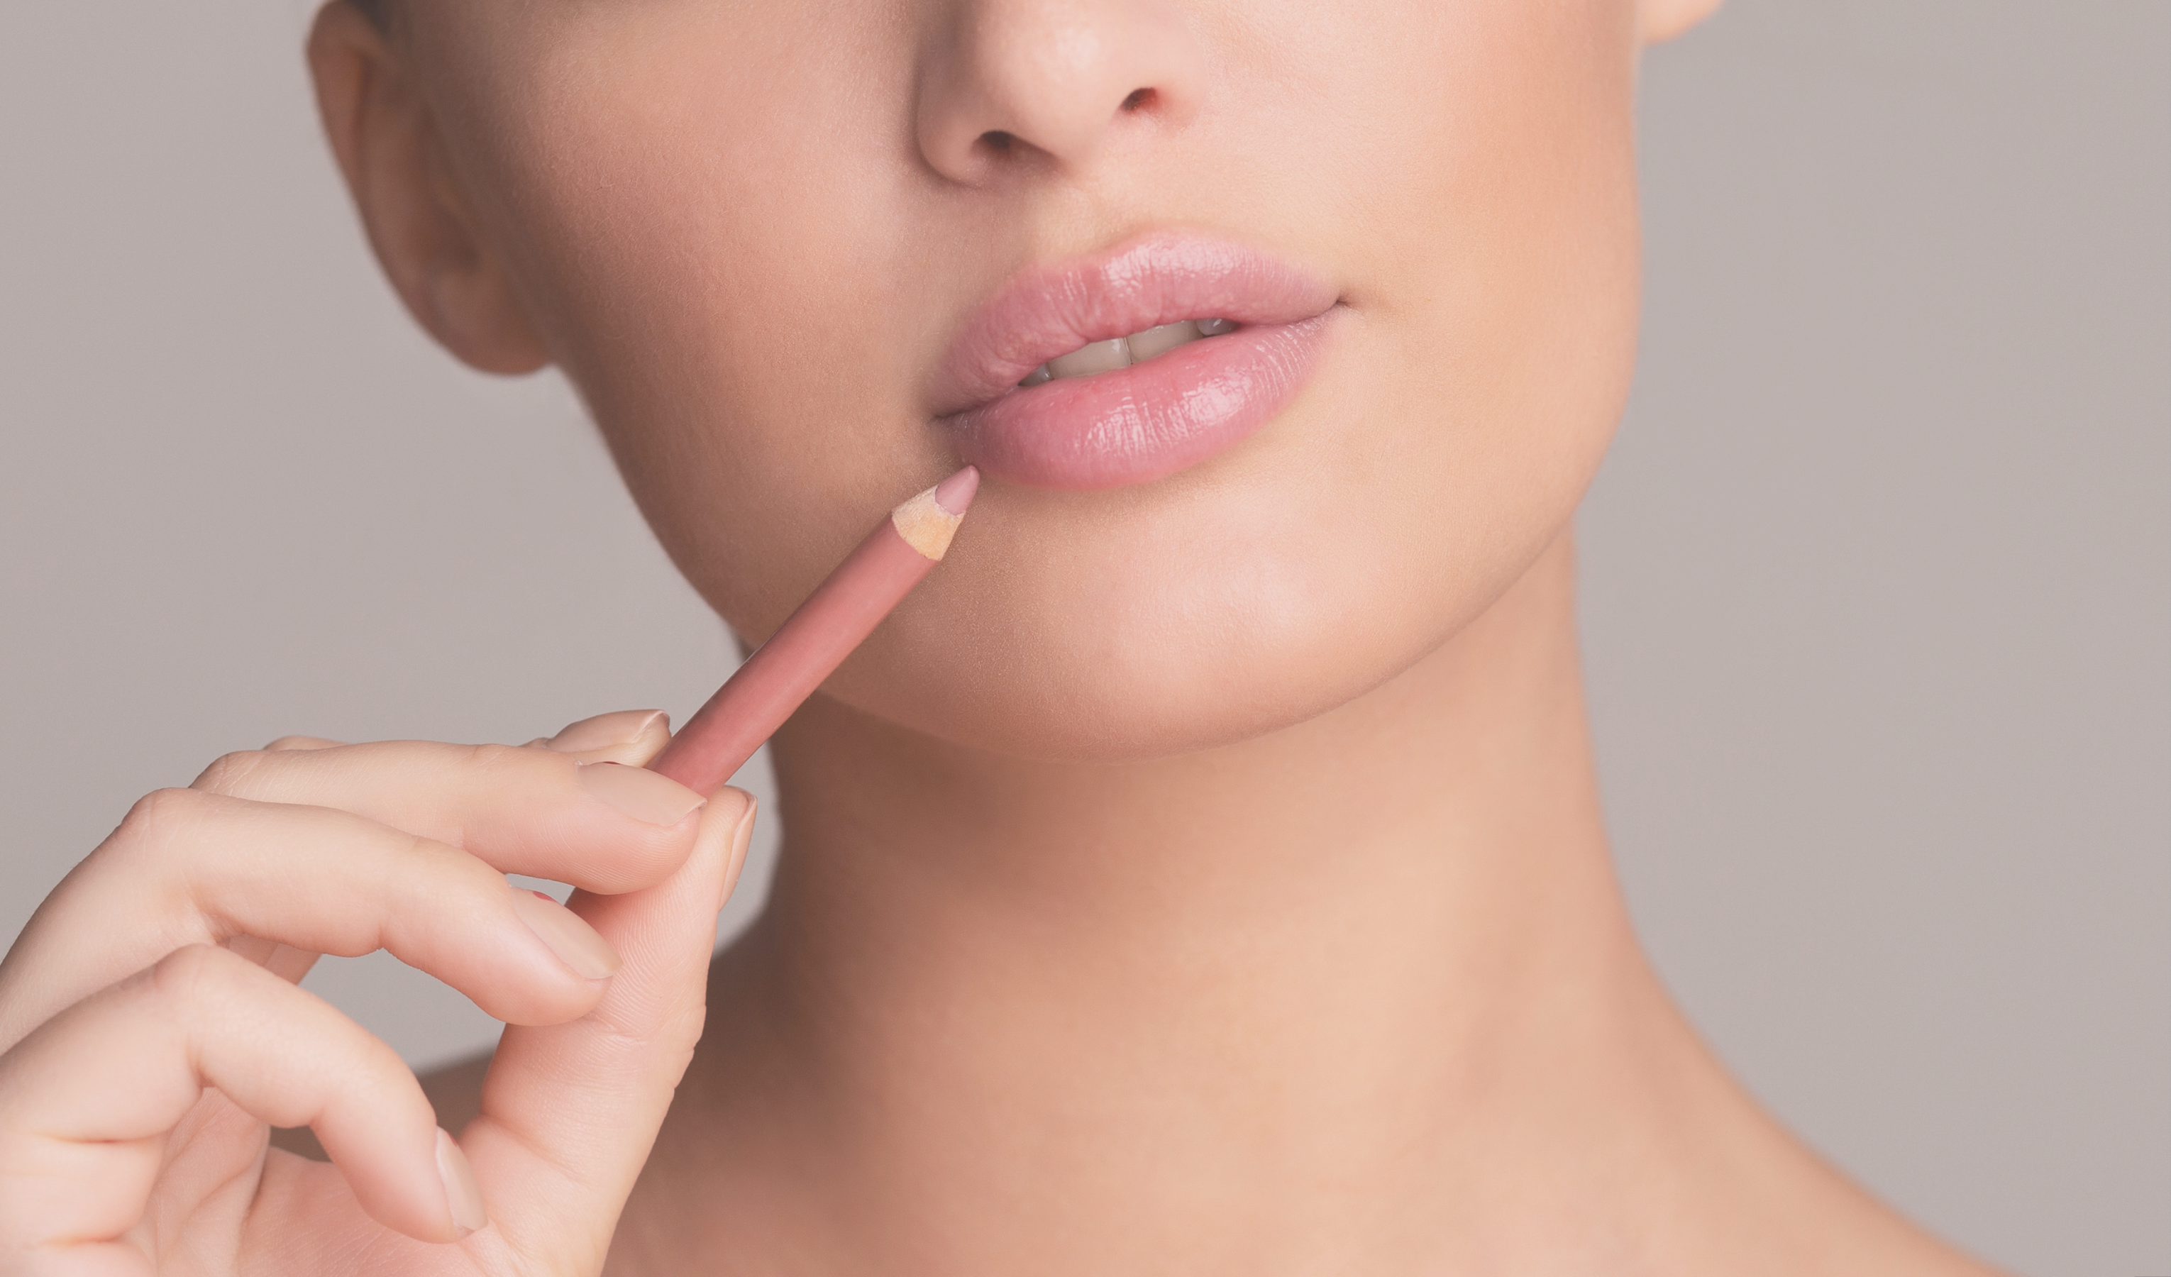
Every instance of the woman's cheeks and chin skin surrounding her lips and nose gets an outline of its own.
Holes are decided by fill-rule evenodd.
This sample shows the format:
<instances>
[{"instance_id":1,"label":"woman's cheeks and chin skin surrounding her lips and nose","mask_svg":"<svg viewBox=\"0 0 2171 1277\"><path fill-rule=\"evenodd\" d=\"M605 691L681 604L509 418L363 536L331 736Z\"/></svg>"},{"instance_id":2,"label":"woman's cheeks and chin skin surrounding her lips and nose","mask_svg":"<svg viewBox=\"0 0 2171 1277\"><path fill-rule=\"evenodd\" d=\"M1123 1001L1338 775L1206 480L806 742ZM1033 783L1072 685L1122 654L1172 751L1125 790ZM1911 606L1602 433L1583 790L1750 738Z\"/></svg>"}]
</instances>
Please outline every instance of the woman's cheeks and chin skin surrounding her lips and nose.
<instances>
[{"instance_id":1,"label":"woman's cheeks and chin skin surrounding her lips and nose","mask_svg":"<svg viewBox=\"0 0 2171 1277\"><path fill-rule=\"evenodd\" d=\"M990 250L1031 208L929 195L907 37L660 9L680 26L621 13L521 63L467 163L666 549L762 636L947 469L925 374L1033 254ZM1216 11L1220 106L1122 211L1051 200L1105 230L1046 252L1203 224L1326 269L1348 308L1313 382L1157 484L983 489L831 695L988 747L1155 754L1333 708L1483 612L1565 528L1626 393L1628 9Z\"/></svg>"}]
</instances>

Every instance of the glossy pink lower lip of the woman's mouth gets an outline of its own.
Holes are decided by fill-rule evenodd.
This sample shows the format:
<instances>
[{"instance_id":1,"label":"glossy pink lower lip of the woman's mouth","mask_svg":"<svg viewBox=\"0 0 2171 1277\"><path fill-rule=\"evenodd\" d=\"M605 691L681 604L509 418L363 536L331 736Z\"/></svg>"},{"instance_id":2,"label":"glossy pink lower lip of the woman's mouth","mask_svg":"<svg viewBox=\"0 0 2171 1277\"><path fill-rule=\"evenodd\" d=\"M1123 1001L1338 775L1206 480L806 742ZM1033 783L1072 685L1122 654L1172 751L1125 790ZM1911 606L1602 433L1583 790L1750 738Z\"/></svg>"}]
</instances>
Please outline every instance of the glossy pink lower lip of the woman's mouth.
<instances>
[{"instance_id":1,"label":"glossy pink lower lip of the woman's mouth","mask_svg":"<svg viewBox=\"0 0 2171 1277\"><path fill-rule=\"evenodd\" d=\"M1198 465L1266 426L1311 380L1326 321L1259 324L1125 369L1062 378L942 423L957 456L1040 489L1120 489Z\"/></svg>"}]
</instances>

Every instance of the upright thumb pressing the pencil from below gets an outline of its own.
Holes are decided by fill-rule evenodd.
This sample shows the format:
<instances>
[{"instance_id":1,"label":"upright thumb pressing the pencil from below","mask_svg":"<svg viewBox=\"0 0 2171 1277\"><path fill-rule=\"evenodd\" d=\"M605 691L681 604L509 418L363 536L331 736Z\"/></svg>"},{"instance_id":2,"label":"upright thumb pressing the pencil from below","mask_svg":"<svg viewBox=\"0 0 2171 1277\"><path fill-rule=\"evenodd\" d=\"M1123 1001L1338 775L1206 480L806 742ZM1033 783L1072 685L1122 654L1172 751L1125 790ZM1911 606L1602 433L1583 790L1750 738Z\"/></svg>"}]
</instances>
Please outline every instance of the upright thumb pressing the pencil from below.
<instances>
[{"instance_id":1,"label":"upright thumb pressing the pencil from below","mask_svg":"<svg viewBox=\"0 0 2171 1277\"><path fill-rule=\"evenodd\" d=\"M493 1197L493 1218L543 1270L595 1273L619 1210L701 1038L716 910L753 832L753 797L723 788L686 864L619 897L573 899L625 958L586 1016L506 1029L465 1145Z\"/></svg>"}]
</instances>

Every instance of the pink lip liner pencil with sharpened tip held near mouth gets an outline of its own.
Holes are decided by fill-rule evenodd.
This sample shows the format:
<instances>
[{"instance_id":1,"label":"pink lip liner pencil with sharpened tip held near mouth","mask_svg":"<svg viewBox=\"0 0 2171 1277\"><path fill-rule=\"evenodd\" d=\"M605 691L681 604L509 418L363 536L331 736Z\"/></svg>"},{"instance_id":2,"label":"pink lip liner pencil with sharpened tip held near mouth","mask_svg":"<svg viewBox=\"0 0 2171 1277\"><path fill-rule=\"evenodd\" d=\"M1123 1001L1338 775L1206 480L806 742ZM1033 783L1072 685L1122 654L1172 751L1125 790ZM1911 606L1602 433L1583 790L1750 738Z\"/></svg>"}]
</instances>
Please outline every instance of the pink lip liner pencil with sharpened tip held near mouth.
<instances>
[{"instance_id":1,"label":"pink lip liner pencil with sharpened tip held near mouth","mask_svg":"<svg viewBox=\"0 0 2171 1277\"><path fill-rule=\"evenodd\" d=\"M649 762L714 793L942 560L979 491L970 465L890 510Z\"/></svg>"}]
</instances>

